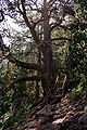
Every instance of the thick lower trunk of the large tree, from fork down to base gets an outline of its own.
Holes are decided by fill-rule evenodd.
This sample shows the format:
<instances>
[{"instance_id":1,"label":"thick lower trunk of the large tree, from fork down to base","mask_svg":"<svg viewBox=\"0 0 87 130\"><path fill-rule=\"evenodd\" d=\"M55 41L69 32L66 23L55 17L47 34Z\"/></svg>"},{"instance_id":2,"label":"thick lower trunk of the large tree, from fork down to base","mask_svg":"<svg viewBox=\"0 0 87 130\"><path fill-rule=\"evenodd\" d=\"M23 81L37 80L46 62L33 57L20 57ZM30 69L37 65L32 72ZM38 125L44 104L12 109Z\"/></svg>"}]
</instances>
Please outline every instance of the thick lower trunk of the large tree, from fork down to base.
<instances>
[{"instance_id":1,"label":"thick lower trunk of the large tree, from fork down to base","mask_svg":"<svg viewBox=\"0 0 87 130\"><path fill-rule=\"evenodd\" d=\"M51 47L48 47L45 51L44 63L45 63L45 73L47 74L47 77L42 81L42 88L44 88L44 95L47 96L49 91L51 92L51 90L53 89L55 82Z\"/></svg>"}]
</instances>

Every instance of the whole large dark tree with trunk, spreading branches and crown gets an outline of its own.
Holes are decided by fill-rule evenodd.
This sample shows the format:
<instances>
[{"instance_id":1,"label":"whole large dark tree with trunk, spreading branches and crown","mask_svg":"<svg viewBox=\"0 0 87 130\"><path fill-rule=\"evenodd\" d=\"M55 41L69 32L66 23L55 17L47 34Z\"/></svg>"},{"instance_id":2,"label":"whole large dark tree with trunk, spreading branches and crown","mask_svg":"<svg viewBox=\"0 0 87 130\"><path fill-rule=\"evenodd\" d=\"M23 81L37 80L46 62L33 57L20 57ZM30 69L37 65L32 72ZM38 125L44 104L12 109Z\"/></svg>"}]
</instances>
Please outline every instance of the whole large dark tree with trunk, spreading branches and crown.
<instances>
[{"instance_id":1,"label":"whole large dark tree with trunk, spreading branches and crown","mask_svg":"<svg viewBox=\"0 0 87 130\"><path fill-rule=\"evenodd\" d=\"M4 1L4 0L3 0ZM65 28L63 25L63 21L65 21L66 15L74 15L72 11L72 0L13 0L12 2L7 1L9 10L17 9L17 12L23 16L26 27L28 27L28 31L32 34L32 38L34 39L38 51L40 51L42 55L41 63L24 63L15 58L12 53L9 51L5 58L9 62L14 63L17 66L21 66L26 69L34 69L40 72L39 75L32 77L21 77L13 81L14 83L21 81L32 81L32 80L41 80L44 95L46 96L49 90L54 88L55 82L55 73L54 73L54 64L53 64L53 54L52 54L52 42L54 40L70 40L65 37L52 38L52 31L58 29L59 27ZM4 2L5 2L4 1ZM70 5L69 5L70 4ZM13 5L13 8L12 8ZM61 11L62 10L62 11ZM34 15L29 16L33 13ZM1 20L4 21L4 13L1 10ZM35 18L35 15L38 15L38 18ZM37 26L40 25L40 35L41 39L38 36ZM3 44L2 37L0 36L0 48L2 50L3 55L5 55L5 46ZM51 91L50 91L51 92Z\"/></svg>"}]
</instances>

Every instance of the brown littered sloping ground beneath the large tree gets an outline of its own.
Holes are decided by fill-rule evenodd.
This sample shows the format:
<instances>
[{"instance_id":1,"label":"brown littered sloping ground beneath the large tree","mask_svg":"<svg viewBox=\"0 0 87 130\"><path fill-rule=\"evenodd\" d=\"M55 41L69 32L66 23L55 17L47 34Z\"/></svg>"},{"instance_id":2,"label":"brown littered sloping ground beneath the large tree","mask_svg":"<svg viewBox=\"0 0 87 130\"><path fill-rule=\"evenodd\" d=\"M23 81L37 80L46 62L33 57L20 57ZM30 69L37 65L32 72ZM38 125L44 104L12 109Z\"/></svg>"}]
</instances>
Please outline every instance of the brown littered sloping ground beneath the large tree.
<instances>
[{"instance_id":1,"label":"brown littered sloping ground beneath the large tree","mask_svg":"<svg viewBox=\"0 0 87 130\"><path fill-rule=\"evenodd\" d=\"M87 130L87 99L83 93L59 102L40 103L27 110L12 130ZM44 105L45 104L45 105Z\"/></svg>"}]
</instances>

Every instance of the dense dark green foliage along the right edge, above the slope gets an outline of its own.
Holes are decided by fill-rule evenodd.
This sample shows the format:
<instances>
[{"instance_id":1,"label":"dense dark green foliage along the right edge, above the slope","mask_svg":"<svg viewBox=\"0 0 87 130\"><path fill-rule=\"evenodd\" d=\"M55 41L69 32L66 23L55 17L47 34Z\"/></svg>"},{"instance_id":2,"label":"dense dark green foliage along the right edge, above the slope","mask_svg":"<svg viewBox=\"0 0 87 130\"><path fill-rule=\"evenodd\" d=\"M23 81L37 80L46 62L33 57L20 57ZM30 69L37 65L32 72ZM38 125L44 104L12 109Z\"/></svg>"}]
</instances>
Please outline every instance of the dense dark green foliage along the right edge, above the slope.
<instances>
[{"instance_id":1,"label":"dense dark green foliage along the right edge, above the slope","mask_svg":"<svg viewBox=\"0 0 87 130\"><path fill-rule=\"evenodd\" d=\"M87 21L84 17L87 2L85 2L85 0L78 0L75 4L75 18L71 24L72 42L66 57L67 75L75 80L80 79L82 74L87 79Z\"/></svg>"}]
</instances>

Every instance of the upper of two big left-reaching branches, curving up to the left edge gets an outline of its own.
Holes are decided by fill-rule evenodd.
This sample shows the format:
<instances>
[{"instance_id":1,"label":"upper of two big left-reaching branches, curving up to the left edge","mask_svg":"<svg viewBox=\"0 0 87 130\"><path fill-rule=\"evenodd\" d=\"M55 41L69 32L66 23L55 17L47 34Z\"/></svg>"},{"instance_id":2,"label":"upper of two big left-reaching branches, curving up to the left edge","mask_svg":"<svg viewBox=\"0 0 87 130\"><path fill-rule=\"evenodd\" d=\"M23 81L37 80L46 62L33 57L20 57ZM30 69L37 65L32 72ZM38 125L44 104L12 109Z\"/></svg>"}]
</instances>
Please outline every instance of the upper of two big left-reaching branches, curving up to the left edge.
<instances>
[{"instance_id":1,"label":"upper of two big left-reaching branches, curving up to the left edge","mask_svg":"<svg viewBox=\"0 0 87 130\"><path fill-rule=\"evenodd\" d=\"M16 60L10 52L10 49L5 47L5 44L3 44L1 35L0 35L0 48L2 50L2 54L4 58L8 58L10 62L14 63L15 65L21 66L26 69L44 70L42 64L35 64L35 63L32 64L32 63L25 63L25 62Z\"/></svg>"}]
</instances>

